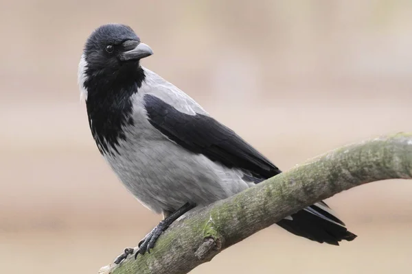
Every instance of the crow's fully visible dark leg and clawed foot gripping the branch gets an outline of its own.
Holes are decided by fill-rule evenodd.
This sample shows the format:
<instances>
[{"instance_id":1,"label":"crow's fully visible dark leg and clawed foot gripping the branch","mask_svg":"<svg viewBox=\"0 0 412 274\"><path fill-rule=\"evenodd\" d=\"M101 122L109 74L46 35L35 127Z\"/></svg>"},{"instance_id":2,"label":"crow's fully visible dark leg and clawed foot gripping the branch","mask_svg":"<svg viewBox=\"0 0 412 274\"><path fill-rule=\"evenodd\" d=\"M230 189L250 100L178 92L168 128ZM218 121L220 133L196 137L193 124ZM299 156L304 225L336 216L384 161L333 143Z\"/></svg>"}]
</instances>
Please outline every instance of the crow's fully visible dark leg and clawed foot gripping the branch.
<instances>
[{"instance_id":1,"label":"crow's fully visible dark leg and clawed foot gripping the branch","mask_svg":"<svg viewBox=\"0 0 412 274\"><path fill-rule=\"evenodd\" d=\"M164 220L162 220L159 225L157 225L146 237L144 237L143 240L139 242L139 250L137 250L135 254L135 258L137 258L138 254L143 255L148 251L150 253L150 249L155 247L155 243L157 241L157 238L161 236L161 234L168 229L170 225L177 219L179 219L180 216L194 208L196 205L194 203L185 203L181 208L167 216Z\"/></svg>"}]
</instances>

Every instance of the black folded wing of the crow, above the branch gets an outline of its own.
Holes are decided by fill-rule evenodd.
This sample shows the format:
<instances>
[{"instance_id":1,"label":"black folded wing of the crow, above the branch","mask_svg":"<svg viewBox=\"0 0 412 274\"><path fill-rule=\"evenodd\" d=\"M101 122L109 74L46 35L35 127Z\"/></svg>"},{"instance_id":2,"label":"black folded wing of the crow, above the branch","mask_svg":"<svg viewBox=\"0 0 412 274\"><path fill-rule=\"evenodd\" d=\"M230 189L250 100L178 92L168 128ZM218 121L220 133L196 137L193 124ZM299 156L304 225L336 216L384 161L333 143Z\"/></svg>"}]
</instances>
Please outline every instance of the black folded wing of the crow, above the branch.
<instances>
[{"instance_id":1,"label":"black folded wing of the crow, above the branch","mask_svg":"<svg viewBox=\"0 0 412 274\"><path fill-rule=\"evenodd\" d=\"M185 149L264 179L281 172L233 130L209 116L179 112L153 95L144 95L144 105L153 127Z\"/></svg>"}]
</instances>

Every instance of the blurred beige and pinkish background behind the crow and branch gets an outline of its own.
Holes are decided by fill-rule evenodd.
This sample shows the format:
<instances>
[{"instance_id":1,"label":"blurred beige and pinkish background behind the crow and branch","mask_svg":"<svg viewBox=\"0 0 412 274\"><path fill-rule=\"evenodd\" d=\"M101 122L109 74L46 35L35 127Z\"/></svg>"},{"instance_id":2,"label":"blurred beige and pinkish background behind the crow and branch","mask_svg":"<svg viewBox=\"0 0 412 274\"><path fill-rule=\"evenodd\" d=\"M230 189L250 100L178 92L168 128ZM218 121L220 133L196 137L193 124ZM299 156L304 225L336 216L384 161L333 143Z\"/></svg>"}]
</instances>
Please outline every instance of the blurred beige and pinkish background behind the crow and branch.
<instances>
[{"instance_id":1,"label":"blurred beige and pinkish background behind the crow and branch","mask_svg":"<svg viewBox=\"0 0 412 274\"><path fill-rule=\"evenodd\" d=\"M287 170L412 131L412 1L5 1L0 33L0 269L97 273L158 216L106 165L79 102L87 36L125 23L144 66ZM358 234L341 247L270 227L192 273L408 273L412 184L328 199Z\"/></svg>"}]
</instances>

